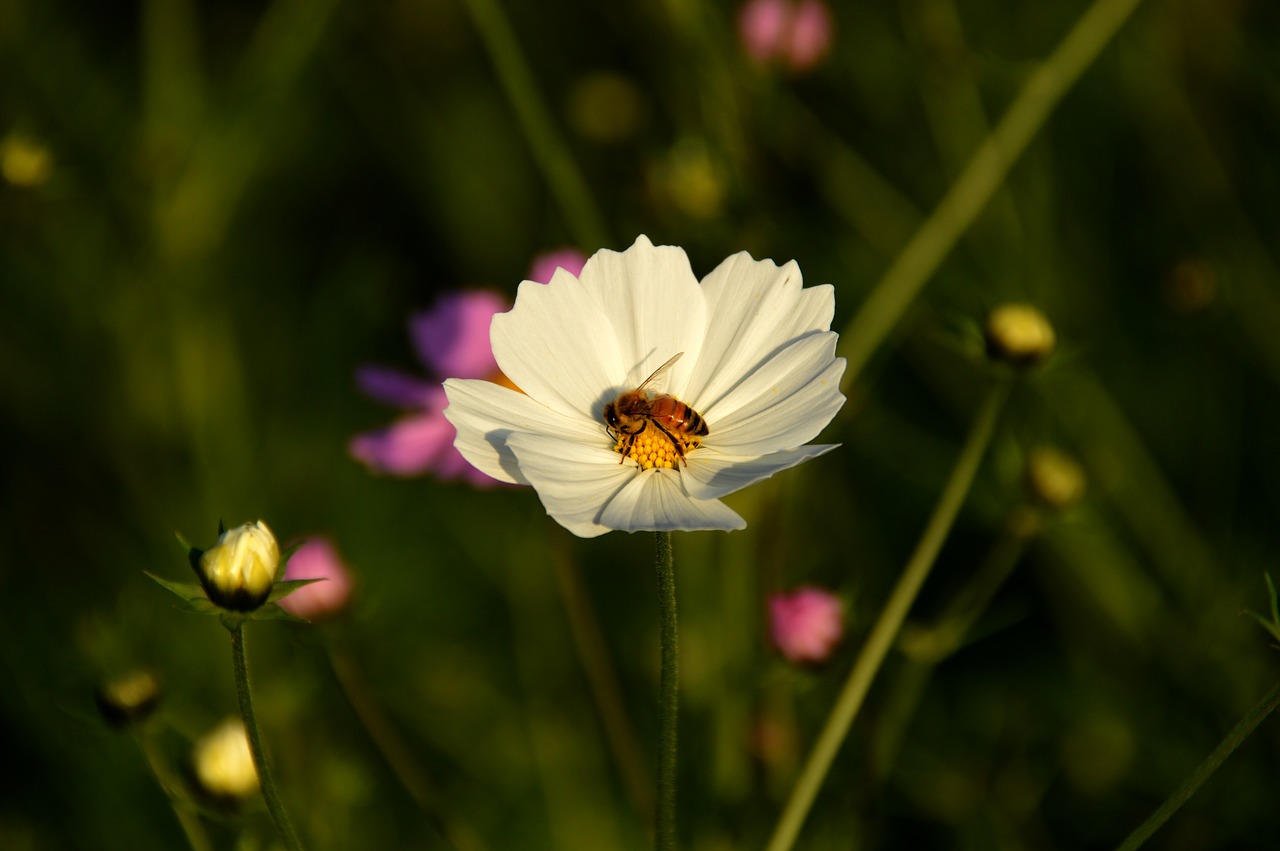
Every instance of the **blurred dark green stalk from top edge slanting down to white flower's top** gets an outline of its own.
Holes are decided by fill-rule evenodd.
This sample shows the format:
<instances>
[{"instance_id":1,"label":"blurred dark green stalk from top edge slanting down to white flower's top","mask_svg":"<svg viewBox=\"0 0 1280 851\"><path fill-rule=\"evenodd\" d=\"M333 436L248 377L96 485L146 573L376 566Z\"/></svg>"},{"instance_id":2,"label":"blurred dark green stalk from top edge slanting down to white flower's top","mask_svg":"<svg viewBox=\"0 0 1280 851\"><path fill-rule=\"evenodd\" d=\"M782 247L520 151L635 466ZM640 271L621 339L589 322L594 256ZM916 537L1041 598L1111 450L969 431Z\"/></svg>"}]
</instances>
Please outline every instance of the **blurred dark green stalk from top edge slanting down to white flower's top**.
<instances>
[{"instance_id":1,"label":"blurred dark green stalk from top edge slanting down to white flower's top","mask_svg":"<svg viewBox=\"0 0 1280 851\"><path fill-rule=\"evenodd\" d=\"M525 131L534 159L556 195L570 233L584 250L594 251L607 246L607 229L600 211L591 200L586 180L577 170L568 146L556 131L547 104L534 86L534 72L520 51L520 44L502 6L498 0L466 0L463 5L471 13L485 50L489 51L502 88Z\"/></svg>"}]
</instances>

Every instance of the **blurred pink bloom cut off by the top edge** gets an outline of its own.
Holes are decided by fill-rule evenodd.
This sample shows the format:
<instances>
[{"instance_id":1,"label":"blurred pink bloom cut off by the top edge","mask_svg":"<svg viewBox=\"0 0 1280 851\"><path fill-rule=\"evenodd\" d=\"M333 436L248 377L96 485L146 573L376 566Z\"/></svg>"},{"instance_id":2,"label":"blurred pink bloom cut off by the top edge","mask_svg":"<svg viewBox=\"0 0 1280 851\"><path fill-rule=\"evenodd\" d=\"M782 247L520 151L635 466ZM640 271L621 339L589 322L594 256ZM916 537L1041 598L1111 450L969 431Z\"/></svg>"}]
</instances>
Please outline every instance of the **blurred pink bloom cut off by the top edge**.
<instances>
[{"instance_id":1,"label":"blurred pink bloom cut off by the top edge","mask_svg":"<svg viewBox=\"0 0 1280 851\"><path fill-rule=\"evenodd\" d=\"M833 24L822 0L750 0L737 18L746 52L792 72L813 68L831 47Z\"/></svg>"}]
</instances>

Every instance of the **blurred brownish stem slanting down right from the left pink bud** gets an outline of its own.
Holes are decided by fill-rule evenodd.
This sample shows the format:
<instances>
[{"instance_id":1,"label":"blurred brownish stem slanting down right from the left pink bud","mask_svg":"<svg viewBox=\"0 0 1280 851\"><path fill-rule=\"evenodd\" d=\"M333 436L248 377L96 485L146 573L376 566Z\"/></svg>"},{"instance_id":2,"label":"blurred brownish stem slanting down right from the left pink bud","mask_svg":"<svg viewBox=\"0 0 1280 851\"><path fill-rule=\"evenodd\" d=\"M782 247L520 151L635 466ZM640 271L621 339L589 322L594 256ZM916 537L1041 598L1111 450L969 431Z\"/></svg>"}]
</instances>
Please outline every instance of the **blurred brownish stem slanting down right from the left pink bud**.
<instances>
[{"instance_id":1,"label":"blurred brownish stem slanting down right from the left pink bud","mask_svg":"<svg viewBox=\"0 0 1280 851\"><path fill-rule=\"evenodd\" d=\"M337 646L334 641L325 641L325 651L334 677L338 678L338 685L347 696L347 701L356 710L360 723L365 726L365 732L369 733L378 752L387 760L396 779L426 815L426 820L431 823L431 827L449 847L458 851L483 851L484 846L470 831L458 824L451 824L444 818L439 796L426 775L426 770L413 759L413 751L408 742L404 741L374 696L356 655L346 644Z\"/></svg>"}]
</instances>

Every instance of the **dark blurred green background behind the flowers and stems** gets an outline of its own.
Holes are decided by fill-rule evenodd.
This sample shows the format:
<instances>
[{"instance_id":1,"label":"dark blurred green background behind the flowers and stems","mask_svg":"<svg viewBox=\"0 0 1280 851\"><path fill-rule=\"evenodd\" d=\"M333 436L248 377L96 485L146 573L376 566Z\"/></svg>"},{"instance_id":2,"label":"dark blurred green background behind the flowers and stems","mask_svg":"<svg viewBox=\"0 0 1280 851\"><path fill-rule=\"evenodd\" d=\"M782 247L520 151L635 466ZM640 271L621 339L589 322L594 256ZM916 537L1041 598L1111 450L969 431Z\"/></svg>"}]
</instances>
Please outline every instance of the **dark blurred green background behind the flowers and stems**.
<instances>
[{"instance_id":1,"label":"dark blurred green background behind the flowers and stems","mask_svg":"<svg viewBox=\"0 0 1280 851\"><path fill-rule=\"evenodd\" d=\"M234 713L228 639L142 571L188 581L174 530L207 545L259 517L330 535L360 582L343 623L248 628L307 847L448 847L335 648L480 847L648 847L566 600L577 577L652 767L650 536L579 541L530 491L369 475L347 440L393 412L353 370L416 369L404 321L440 292L513 294L539 252L637 233L698 274L795 258L844 328L1084 8L835 3L800 73L751 61L730 3L0 0L0 847L184 847L92 694L155 669L145 738L182 770ZM677 536L687 847L768 837L991 380L973 329L1004 301L1060 348L913 616L1011 546L1030 448L1076 458L1087 497L1012 544L932 676L891 655L797 847L1114 846L1274 683L1240 613L1280 552L1277 40L1268 0L1142 4L858 376L824 435L844 447L735 498L746 531ZM806 671L763 619L801 582L849 604ZM1275 847L1277 756L1272 719L1149 847ZM207 829L273 841L261 807Z\"/></svg>"}]
</instances>

